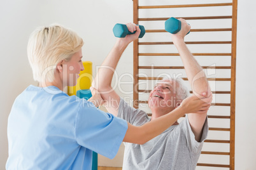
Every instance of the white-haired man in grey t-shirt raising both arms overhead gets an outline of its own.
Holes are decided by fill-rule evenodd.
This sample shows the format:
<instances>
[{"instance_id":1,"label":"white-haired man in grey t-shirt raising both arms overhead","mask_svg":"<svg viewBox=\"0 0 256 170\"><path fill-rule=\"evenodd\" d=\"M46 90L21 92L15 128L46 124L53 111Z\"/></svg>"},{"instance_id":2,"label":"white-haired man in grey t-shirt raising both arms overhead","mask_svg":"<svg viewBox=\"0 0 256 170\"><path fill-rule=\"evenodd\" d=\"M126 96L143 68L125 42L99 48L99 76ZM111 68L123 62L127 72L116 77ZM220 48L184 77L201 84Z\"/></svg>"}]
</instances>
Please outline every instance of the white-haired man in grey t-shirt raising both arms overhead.
<instances>
[{"instance_id":1,"label":"white-haired man in grey t-shirt raising both arms overhead","mask_svg":"<svg viewBox=\"0 0 256 170\"><path fill-rule=\"evenodd\" d=\"M190 25L183 19L179 20L182 29L171 37L180 53L192 91L199 98L203 96L211 98L210 87L203 69L184 42ZM133 23L127 24L127 27L130 32L138 29ZM179 107L181 101L188 97L188 91L183 85L183 80L179 78L168 78L157 82L148 99L148 105L152 110L151 119L143 110L132 108L125 103L111 88L111 80L120 56L134 38L132 36L134 35L128 35L117 41L101 65L92 88L101 93L108 112L134 126L141 126ZM125 143L123 169L195 169L207 134L207 110L187 114L183 121L180 123L176 121L173 126L143 145Z\"/></svg>"}]
</instances>

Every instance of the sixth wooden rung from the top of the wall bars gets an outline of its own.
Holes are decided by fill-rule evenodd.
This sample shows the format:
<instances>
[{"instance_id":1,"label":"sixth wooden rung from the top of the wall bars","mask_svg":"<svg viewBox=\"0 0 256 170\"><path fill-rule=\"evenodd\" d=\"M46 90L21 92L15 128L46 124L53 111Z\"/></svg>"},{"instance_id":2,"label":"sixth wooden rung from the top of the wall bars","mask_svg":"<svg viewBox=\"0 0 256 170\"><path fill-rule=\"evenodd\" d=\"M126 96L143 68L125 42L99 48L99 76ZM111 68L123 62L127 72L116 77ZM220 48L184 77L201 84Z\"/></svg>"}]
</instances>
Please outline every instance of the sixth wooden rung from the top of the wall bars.
<instances>
[{"instance_id":1,"label":"sixth wooden rung from the top of the wall bars","mask_svg":"<svg viewBox=\"0 0 256 170\"><path fill-rule=\"evenodd\" d=\"M203 69L231 69L230 66L201 66ZM138 69L184 69L182 66L139 66Z\"/></svg>"}]
</instances>

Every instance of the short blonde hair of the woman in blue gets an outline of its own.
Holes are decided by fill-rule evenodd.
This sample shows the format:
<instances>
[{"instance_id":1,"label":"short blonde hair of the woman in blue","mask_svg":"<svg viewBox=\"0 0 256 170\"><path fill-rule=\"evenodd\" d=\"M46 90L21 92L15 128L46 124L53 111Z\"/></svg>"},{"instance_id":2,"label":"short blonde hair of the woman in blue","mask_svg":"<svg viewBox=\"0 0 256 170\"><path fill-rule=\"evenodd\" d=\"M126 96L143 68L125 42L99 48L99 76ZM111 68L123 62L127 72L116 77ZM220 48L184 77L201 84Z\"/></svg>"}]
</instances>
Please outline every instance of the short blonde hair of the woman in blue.
<instances>
[{"instance_id":1,"label":"short blonde hair of the woman in blue","mask_svg":"<svg viewBox=\"0 0 256 170\"><path fill-rule=\"evenodd\" d=\"M52 82L57 63L70 60L82 46L83 39L73 30L61 25L34 30L27 45L27 56L34 80Z\"/></svg>"}]
</instances>

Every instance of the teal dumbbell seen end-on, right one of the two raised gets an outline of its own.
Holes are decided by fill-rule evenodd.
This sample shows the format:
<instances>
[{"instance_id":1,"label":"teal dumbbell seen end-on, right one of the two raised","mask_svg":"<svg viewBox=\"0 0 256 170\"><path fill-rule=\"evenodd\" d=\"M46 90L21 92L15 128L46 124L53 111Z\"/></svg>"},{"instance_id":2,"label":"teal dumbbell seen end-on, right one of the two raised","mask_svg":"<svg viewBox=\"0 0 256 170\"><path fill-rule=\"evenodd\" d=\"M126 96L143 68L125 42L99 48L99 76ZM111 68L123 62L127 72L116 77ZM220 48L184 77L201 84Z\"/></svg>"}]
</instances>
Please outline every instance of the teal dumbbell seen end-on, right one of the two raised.
<instances>
[{"instance_id":1,"label":"teal dumbbell seen end-on, right one of the two raised","mask_svg":"<svg viewBox=\"0 0 256 170\"><path fill-rule=\"evenodd\" d=\"M171 17L168 20L166 20L164 27L167 32L170 32L171 34L176 34L181 30L181 22L180 20ZM187 34L189 34L189 32Z\"/></svg>"}]
</instances>

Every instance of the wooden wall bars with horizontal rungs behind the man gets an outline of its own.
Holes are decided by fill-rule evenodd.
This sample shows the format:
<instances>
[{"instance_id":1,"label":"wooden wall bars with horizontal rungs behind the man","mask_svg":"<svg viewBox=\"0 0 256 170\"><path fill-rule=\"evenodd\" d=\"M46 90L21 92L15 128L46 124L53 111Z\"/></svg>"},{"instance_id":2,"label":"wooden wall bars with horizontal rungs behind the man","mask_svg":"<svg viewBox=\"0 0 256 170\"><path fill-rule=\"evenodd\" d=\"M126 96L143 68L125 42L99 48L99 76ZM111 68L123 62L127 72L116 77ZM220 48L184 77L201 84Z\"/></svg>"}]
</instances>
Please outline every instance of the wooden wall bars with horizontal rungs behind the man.
<instances>
[{"instance_id":1,"label":"wooden wall bars with horizontal rungs behind the man","mask_svg":"<svg viewBox=\"0 0 256 170\"><path fill-rule=\"evenodd\" d=\"M204 8L204 7L213 7L213 8L220 8L220 7L224 7L224 6L231 6L232 7L232 14L229 15L223 15L223 14L218 14L217 16L183 16L183 17L179 17L179 16L173 16L175 18L183 18L185 20L199 20L202 22L204 22L204 20L232 20L232 25L231 27L222 27L222 25L220 25L220 28L215 27L215 28L198 28L198 29L191 29L190 32L198 32L197 34L203 34L204 32L221 32L221 33L225 33L225 34L232 34L231 35L231 39L229 40L217 40L217 41L212 41L211 39L207 39L204 41L186 41L186 44L192 44L192 46L201 46L201 44L205 45L205 44L231 44L231 49L230 46L227 47L227 49L229 49L231 52L219 52L219 51L211 51L211 53L192 53L192 55L194 56L201 56L203 58L215 58L215 57L221 57L221 58L227 58L227 60L230 59L230 64L229 65L217 65L217 66L207 66L207 65L203 65L203 69L215 69L218 70L220 72L224 72L225 70L231 72L230 77L209 77L208 81L215 81L215 82L229 82L230 85L230 89L215 89L213 90L213 94L215 95L226 95L226 96L230 96L230 102L215 102L212 103L211 105L214 105L216 107L220 107L220 111L219 113L215 113L213 115L208 115L208 119L209 120L227 120L230 121L230 126L229 128L227 127L216 127L216 126L211 126L209 129L210 131L217 131L217 132L224 132L224 133L229 133L229 140L226 139L206 139L204 142L205 143L209 143L210 145L213 144L218 144L220 143L220 145L229 145L229 152L223 152L220 150L214 150L214 151L210 151L210 150L203 150L201 152L202 155L216 155L216 156L227 156L229 157L229 164L214 164L211 162L211 160L209 160L209 162L205 163L205 162L198 162L197 166L199 167L205 167L205 169L207 169L207 167L216 167L216 169L222 169L223 167L225 168L229 168L229 169L234 169L234 154L235 154L235 101L236 101L236 29L237 29L237 6L238 6L238 2L237 0L231 0L232 3L211 3L211 4L160 4L160 0L157 1L160 5L143 5L143 6L139 6L139 0L133 0L134 3L134 23L139 24L139 22L143 22L143 23L147 23L147 22L155 22L155 21L165 21L167 19L169 19L169 17L161 17L161 16L157 16L157 17L150 17L150 16L143 16L143 17L139 17L139 11L140 10L147 10L147 9L161 9L161 8L181 8L180 10L185 10L186 8ZM166 1L164 1L166 3ZM189 1L190 3L192 3L192 1ZM145 1L144 1L145 3ZM171 2L170 2L171 3ZM184 9L182 9L184 8ZM222 8L220 8L221 10ZM189 15L189 14L188 14ZM146 27L145 27L146 28ZM151 34L151 33L156 33L156 34L166 34L166 30L164 30L164 28L162 29L147 29L146 28L146 34ZM193 33L190 33L193 34ZM141 40L139 40L141 41ZM152 58L152 57L160 57L160 56L168 56L168 57L174 57L174 56L179 56L178 53L152 53L152 52L147 52L147 51L143 51L140 52L139 51L139 46L152 46L152 45L157 45L157 46L166 46L166 45L173 45L173 42L166 42L166 41L154 41L154 42L139 42L139 41L134 41L134 108L138 108L139 105L146 105L148 103L148 101L146 100L141 100L139 99L139 95L143 95L145 93L150 93L150 91L152 89L143 89L141 88L138 84L140 81L157 81L157 80L161 80L162 77L155 77L155 75L150 75L148 77L143 77L141 75L139 75L139 72L141 70L145 70L145 71L150 71L150 70L183 70L184 67L182 65L177 66L177 65L153 65L150 66L150 64L148 65L139 65L139 58ZM145 59L147 60L147 59ZM187 81L187 77L183 77L183 80ZM190 93L192 93L192 91L190 91ZM230 114L222 114L222 109L227 107L230 109ZM150 113L148 113L149 116L151 116Z\"/></svg>"}]
</instances>

